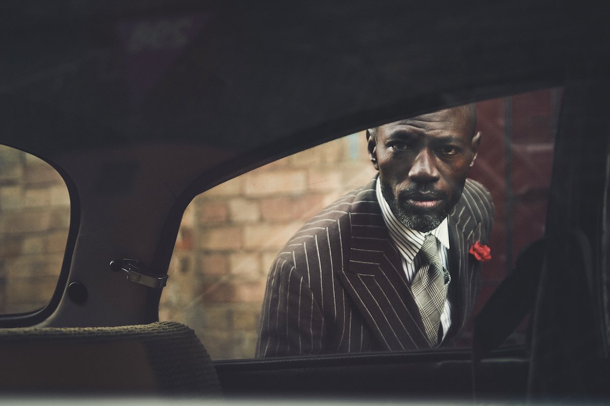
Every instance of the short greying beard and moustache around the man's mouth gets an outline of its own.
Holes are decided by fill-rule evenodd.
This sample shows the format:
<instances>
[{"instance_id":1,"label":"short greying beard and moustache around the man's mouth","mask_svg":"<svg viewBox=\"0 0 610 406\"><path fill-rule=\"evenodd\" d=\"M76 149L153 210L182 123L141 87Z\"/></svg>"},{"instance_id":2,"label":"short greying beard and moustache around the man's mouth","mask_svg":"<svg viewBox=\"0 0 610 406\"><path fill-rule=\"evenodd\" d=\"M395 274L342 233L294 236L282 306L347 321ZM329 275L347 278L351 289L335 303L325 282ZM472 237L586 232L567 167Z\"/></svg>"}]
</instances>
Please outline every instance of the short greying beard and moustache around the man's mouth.
<instances>
[{"instance_id":1,"label":"short greying beard and moustache around the man's mouth","mask_svg":"<svg viewBox=\"0 0 610 406\"><path fill-rule=\"evenodd\" d=\"M462 195L461 190L454 191L458 193L453 195L452 201L449 201L447 192L439 191L429 185L409 187L409 189L400 191L397 197L389 184L381 180L381 178L379 178L379 181L381 181L381 194L386 199L388 206L390 206L397 219L408 228L421 231L422 233L427 233L437 228L445 220L449 211ZM463 187L464 185L459 187L459 189L463 189ZM410 205L408 201L417 197L418 194L434 195L434 200L441 200L440 206L428 210Z\"/></svg>"}]
</instances>

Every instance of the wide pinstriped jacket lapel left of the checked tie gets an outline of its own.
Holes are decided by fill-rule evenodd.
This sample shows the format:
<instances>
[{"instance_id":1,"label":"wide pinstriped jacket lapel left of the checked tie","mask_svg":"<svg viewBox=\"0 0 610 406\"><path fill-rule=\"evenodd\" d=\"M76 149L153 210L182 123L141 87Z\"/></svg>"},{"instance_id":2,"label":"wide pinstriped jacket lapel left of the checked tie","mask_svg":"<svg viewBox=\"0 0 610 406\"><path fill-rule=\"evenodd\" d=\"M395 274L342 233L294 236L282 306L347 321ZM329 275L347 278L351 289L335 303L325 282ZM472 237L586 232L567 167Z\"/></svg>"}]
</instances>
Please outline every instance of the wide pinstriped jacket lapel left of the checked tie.
<instances>
[{"instance_id":1,"label":"wide pinstriped jacket lapel left of the checked tie","mask_svg":"<svg viewBox=\"0 0 610 406\"><path fill-rule=\"evenodd\" d=\"M375 181L367 187L350 213L348 266L339 279L381 346L389 351L426 348L419 310L377 203Z\"/></svg>"}]
</instances>

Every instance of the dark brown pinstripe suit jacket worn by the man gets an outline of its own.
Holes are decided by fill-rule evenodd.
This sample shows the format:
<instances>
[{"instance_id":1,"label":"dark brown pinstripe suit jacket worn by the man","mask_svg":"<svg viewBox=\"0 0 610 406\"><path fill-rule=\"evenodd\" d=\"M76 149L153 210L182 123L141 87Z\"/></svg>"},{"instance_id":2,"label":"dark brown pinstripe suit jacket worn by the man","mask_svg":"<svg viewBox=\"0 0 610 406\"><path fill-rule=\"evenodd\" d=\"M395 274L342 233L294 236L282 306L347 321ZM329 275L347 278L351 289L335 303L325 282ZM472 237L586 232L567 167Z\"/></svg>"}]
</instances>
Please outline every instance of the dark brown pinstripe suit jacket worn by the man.
<instances>
[{"instance_id":1,"label":"dark brown pinstripe suit jacket worn by the man","mask_svg":"<svg viewBox=\"0 0 610 406\"><path fill-rule=\"evenodd\" d=\"M312 217L276 257L267 280L257 357L428 348L400 254L375 195L376 178ZM489 243L493 203L466 180L448 216L451 341L472 313Z\"/></svg>"}]
</instances>

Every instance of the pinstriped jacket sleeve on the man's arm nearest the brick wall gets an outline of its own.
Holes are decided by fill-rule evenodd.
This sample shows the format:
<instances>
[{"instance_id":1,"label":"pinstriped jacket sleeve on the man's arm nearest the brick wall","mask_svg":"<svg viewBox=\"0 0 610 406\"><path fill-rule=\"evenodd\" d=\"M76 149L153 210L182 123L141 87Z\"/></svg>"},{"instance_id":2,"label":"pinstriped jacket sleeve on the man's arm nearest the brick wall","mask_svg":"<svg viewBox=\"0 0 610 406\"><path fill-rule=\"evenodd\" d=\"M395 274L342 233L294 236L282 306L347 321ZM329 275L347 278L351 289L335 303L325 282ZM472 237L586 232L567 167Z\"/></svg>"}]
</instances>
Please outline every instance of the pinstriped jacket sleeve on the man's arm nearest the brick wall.
<instances>
[{"instance_id":1,"label":"pinstriped jacket sleeve on the man's arm nearest the brick wall","mask_svg":"<svg viewBox=\"0 0 610 406\"><path fill-rule=\"evenodd\" d=\"M267 279L256 357L317 354L322 330L322 313L307 279L279 255Z\"/></svg>"}]
</instances>

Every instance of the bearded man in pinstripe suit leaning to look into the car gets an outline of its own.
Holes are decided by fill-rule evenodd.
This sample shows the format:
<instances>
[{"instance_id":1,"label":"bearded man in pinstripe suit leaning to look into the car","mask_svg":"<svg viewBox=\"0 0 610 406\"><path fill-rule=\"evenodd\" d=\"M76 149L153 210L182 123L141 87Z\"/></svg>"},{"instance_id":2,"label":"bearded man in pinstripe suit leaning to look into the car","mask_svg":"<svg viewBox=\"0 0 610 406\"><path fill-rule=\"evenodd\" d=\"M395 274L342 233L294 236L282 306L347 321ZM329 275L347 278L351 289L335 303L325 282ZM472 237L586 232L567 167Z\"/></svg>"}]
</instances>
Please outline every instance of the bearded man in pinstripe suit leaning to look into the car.
<instances>
[{"instance_id":1,"label":"bearded man in pinstripe suit leaning to look into the car","mask_svg":"<svg viewBox=\"0 0 610 406\"><path fill-rule=\"evenodd\" d=\"M475 127L468 105L367 131L378 177L278 254L258 357L434 348L456 337L481 278L468 251L486 248L493 222L489 192L466 178Z\"/></svg>"}]
</instances>

